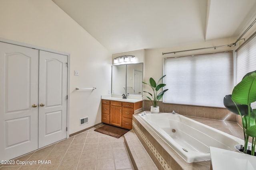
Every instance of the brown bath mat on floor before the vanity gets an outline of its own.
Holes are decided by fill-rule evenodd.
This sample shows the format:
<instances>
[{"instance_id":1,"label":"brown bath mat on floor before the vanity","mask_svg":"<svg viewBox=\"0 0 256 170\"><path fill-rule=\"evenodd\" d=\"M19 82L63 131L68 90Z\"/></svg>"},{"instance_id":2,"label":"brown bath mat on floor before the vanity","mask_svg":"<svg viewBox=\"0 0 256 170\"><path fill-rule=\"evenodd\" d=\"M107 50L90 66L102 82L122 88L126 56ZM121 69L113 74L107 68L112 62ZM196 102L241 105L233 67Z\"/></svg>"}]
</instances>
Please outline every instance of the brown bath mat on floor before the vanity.
<instances>
[{"instance_id":1,"label":"brown bath mat on floor before the vanity","mask_svg":"<svg viewBox=\"0 0 256 170\"><path fill-rule=\"evenodd\" d=\"M105 135L109 135L112 137L120 138L122 135L127 133L129 130L123 129L121 127L112 126L112 125L104 125L102 127L94 129L94 131L100 132L100 133L103 133Z\"/></svg>"}]
</instances>

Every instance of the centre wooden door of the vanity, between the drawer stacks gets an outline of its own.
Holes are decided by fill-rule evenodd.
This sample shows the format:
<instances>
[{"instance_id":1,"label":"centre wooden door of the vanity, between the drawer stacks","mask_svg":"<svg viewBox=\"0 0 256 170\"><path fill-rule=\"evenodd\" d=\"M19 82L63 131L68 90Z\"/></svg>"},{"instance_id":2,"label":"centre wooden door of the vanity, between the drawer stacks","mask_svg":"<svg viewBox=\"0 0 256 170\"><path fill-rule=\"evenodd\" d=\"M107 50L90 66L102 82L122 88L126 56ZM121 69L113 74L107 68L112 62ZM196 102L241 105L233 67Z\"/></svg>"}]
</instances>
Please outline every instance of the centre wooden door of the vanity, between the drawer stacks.
<instances>
[{"instance_id":1,"label":"centre wooden door of the vanity, between the drawer stacks","mask_svg":"<svg viewBox=\"0 0 256 170\"><path fill-rule=\"evenodd\" d=\"M110 106L110 124L114 126L122 126L122 107Z\"/></svg>"}]
</instances>

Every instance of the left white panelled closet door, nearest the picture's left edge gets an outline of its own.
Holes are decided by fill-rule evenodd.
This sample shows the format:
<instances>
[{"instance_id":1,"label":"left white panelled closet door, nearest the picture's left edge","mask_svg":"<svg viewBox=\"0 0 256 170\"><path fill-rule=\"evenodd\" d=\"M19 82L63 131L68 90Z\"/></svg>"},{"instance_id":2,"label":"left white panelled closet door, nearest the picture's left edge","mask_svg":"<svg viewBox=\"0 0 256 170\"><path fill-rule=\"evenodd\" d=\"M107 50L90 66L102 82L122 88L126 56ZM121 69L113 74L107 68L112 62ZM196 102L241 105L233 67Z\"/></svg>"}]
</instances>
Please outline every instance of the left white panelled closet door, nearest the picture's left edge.
<instances>
[{"instance_id":1,"label":"left white panelled closet door, nearest the picture's left edge","mask_svg":"<svg viewBox=\"0 0 256 170\"><path fill-rule=\"evenodd\" d=\"M0 160L38 149L38 50L0 42Z\"/></svg>"}]
</instances>

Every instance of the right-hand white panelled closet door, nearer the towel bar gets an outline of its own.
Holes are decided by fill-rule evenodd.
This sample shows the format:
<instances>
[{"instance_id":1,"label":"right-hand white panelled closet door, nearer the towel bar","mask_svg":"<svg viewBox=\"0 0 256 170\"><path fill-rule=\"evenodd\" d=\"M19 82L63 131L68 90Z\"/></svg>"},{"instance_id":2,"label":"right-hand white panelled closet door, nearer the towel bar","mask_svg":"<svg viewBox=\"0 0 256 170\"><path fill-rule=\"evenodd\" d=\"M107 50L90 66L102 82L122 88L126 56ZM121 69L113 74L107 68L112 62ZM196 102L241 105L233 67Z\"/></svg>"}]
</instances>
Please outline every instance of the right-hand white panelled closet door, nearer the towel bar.
<instances>
[{"instance_id":1,"label":"right-hand white panelled closet door, nearer the towel bar","mask_svg":"<svg viewBox=\"0 0 256 170\"><path fill-rule=\"evenodd\" d=\"M39 53L38 147L66 138L68 57Z\"/></svg>"}]
</instances>

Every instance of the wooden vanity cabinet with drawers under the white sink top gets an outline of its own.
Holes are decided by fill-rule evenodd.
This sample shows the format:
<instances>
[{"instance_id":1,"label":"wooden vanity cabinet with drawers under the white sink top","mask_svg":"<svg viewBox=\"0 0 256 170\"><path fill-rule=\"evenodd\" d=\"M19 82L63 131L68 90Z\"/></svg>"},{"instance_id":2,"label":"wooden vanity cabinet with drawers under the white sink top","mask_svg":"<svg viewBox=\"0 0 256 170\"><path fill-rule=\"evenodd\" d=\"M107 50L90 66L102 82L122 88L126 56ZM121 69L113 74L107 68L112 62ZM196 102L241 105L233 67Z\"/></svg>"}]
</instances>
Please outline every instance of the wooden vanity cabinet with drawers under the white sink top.
<instances>
[{"instance_id":1,"label":"wooden vanity cabinet with drawers under the white sink top","mask_svg":"<svg viewBox=\"0 0 256 170\"><path fill-rule=\"evenodd\" d=\"M142 101L130 103L102 100L102 123L132 129L132 115L138 109L142 109Z\"/></svg>"}]
</instances>

